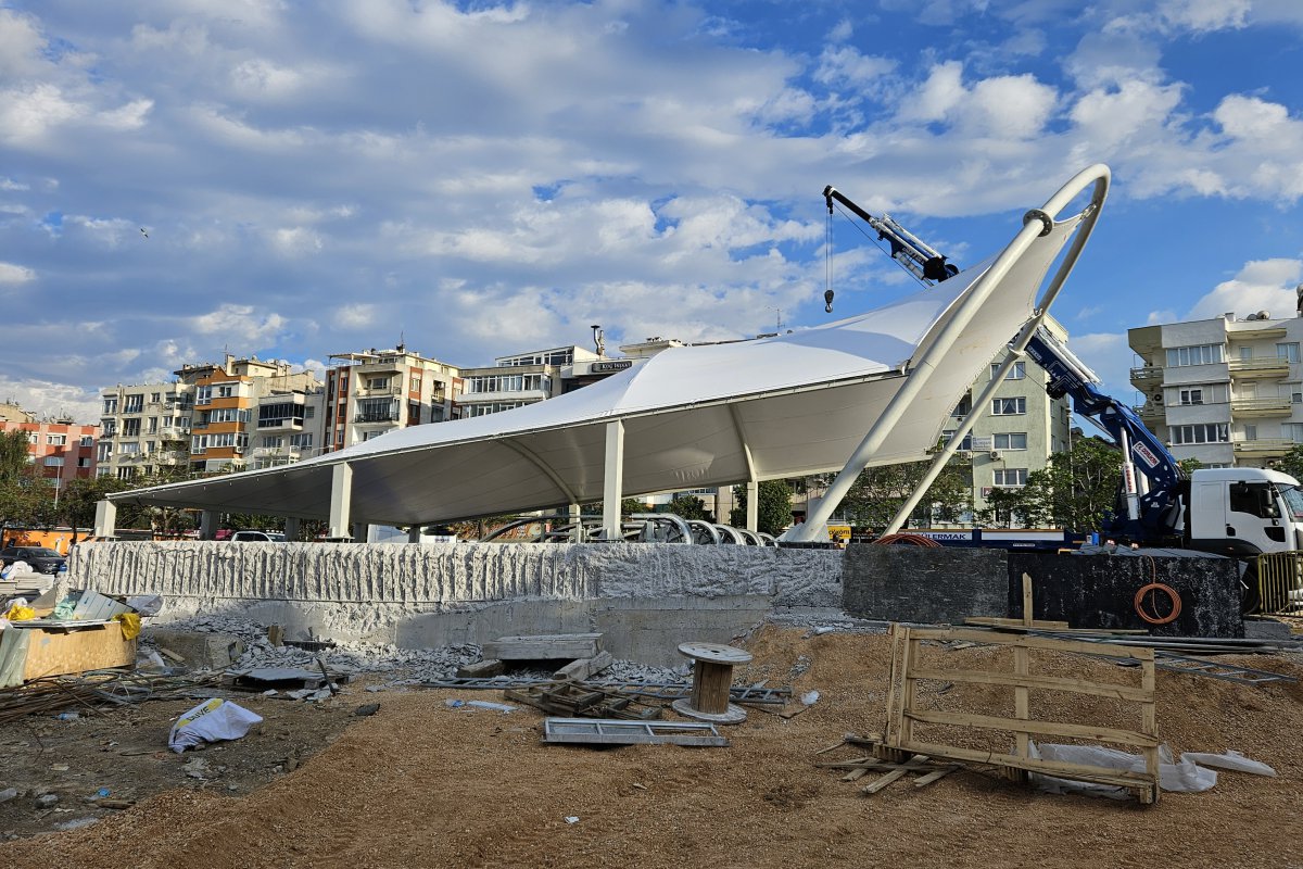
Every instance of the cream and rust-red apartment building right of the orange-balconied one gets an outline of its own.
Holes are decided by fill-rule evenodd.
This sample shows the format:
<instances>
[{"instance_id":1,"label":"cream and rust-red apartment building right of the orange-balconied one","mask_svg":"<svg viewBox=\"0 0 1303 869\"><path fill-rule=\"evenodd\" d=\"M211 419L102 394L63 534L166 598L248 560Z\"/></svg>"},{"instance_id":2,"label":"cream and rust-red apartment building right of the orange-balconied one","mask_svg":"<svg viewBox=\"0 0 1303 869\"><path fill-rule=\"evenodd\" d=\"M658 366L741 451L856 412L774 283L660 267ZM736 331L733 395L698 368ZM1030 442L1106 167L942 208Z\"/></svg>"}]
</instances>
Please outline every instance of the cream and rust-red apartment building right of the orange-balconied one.
<instances>
[{"instance_id":1,"label":"cream and rust-red apartment building right of the orange-balconied one","mask_svg":"<svg viewBox=\"0 0 1303 869\"><path fill-rule=\"evenodd\" d=\"M461 391L456 367L407 349L334 353L326 370L322 452L386 431L453 417Z\"/></svg>"}]
</instances>

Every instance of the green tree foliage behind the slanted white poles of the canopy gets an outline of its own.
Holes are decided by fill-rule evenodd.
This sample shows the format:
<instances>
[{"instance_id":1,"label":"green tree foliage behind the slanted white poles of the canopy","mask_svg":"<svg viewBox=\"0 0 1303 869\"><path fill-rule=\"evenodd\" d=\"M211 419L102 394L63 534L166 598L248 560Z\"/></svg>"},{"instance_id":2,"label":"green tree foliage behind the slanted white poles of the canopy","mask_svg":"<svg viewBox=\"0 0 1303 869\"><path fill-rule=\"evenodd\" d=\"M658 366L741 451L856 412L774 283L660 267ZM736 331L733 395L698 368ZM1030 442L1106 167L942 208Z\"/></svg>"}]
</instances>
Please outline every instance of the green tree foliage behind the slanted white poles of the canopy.
<instances>
[{"instance_id":1,"label":"green tree foliage behind the slanted white poles of the canopy","mask_svg":"<svg viewBox=\"0 0 1303 869\"><path fill-rule=\"evenodd\" d=\"M909 461L865 468L855 478L840 509L846 521L860 529L886 528L904 502L923 483L930 461ZM972 465L952 457L909 516L909 524L958 522L972 509Z\"/></svg>"}]
</instances>

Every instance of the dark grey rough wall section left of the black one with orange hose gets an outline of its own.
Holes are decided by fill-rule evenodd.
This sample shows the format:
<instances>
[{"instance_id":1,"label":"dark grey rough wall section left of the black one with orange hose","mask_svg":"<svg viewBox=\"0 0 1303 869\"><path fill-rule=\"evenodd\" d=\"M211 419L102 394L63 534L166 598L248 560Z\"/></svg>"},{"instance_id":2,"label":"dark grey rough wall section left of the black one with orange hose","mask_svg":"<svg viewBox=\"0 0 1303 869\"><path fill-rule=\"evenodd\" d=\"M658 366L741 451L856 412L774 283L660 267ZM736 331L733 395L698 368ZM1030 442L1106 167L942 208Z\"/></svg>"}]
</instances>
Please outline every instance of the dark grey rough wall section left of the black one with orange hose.
<instances>
[{"instance_id":1,"label":"dark grey rough wall section left of the black one with orange hose","mask_svg":"<svg viewBox=\"0 0 1303 869\"><path fill-rule=\"evenodd\" d=\"M842 607L863 619L960 624L1007 615L1003 550L852 543L842 581Z\"/></svg>"}]
</instances>

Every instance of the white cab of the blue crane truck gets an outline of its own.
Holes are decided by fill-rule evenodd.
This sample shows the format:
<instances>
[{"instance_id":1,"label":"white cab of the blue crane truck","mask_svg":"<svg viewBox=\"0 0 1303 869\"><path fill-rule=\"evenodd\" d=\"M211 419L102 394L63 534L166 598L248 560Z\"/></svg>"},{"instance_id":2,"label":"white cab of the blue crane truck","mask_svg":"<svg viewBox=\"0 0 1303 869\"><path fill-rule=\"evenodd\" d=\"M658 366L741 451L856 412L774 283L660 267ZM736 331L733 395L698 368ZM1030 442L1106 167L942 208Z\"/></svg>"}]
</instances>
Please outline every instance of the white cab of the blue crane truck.
<instances>
[{"instance_id":1,"label":"white cab of the blue crane truck","mask_svg":"<svg viewBox=\"0 0 1303 869\"><path fill-rule=\"evenodd\" d=\"M1303 548L1303 491L1267 468L1208 468L1191 474L1190 548L1251 556Z\"/></svg>"}]
</instances>

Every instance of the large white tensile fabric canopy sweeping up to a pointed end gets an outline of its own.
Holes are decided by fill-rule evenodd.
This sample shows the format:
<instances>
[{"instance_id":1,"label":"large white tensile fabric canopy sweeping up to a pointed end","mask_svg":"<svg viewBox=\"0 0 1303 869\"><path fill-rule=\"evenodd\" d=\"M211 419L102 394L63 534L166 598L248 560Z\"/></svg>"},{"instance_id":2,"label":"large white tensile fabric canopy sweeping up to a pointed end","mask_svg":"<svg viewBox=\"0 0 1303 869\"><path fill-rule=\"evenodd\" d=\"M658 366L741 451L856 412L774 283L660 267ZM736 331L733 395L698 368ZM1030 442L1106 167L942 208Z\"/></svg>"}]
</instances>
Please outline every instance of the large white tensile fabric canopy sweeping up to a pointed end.
<instances>
[{"instance_id":1,"label":"large white tensile fabric canopy sweeping up to a pointed end","mask_svg":"<svg viewBox=\"0 0 1303 869\"><path fill-rule=\"evenodd\" d=\"M294 465L111 499L327 519L335 469L347 463L349 513L357 522L416 525L564 507L602 499L615 421L623 423L623 461L615 466L625 495L800 477L840 470L912 377L921 378L921 390L903 414L893 414L869 464L920 460L977 375L1044 315L1033 307L1037 292L1083 216L1055 223L1029 242L993 288L982 278L994 258L826 326L671 348L534 405L412 426ZM1005 264L1002 258L992 271ZM975 292L985 296L976 311L964 305ZM956 314L971 321L958 339L954 330L942 336ZM945 352L921 365L938 336Z\"/></svg>"}]
</instances>

